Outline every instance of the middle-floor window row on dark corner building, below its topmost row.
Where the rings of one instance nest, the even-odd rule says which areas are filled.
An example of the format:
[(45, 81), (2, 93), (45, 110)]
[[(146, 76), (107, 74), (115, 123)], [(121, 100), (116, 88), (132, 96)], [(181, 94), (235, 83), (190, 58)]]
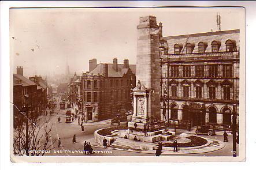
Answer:
[[(94, 95), (94, 100), (92, 100), (92, 95)], [(100, 96), (98, 96), (100, 95)], [(108, 101), (108, 100), (124, 100), (124, 99), (130, 99), (131, 98), (131, 92), (129, 90), (116, 90), (105, 92), (105, 96), (102, 96), (102, 92), (87, 92), (87, 97), (84, 96), (84, 99), (86, 102), (99, 102), (99, 101)], [(99, 97), (99, 99), (98, 99)], [(105, 97), (105, 99), (104, 99)]]

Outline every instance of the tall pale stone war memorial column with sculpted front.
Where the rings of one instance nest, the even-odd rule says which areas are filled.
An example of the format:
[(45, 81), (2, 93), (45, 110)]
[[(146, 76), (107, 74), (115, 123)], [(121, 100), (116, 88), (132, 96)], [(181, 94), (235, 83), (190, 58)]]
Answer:
[(154, 16), (140, 17), (137, 43), (136, 80), (133, 89), (133, 115), (129, 122), (129, 138), (141, 141), (160, 140), (161, 120), (159, 32)]

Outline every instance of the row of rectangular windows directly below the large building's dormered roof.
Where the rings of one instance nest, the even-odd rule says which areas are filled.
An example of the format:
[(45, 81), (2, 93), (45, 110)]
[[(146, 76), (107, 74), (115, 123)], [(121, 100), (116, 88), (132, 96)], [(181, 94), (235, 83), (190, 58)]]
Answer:
[[(191, 66), (170, 66), (170, 77), (180, 77), (179, 69), (182, 68), (182, 77), (191, 77)], [(205, 65), (195, 66), (195, 77), (204, 77)], [(233, 75), (232, 65), (222, 65), (222, 77), (230, 78)], [(218, 65), (208, 65), (208, 77), (218, 77)]]

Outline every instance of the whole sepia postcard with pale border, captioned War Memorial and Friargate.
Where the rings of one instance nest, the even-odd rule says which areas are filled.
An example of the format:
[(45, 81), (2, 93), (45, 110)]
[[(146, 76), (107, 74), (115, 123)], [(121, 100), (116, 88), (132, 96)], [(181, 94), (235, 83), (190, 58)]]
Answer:
[(11, 161), (245, 161), (243, 7), (9, 14)]

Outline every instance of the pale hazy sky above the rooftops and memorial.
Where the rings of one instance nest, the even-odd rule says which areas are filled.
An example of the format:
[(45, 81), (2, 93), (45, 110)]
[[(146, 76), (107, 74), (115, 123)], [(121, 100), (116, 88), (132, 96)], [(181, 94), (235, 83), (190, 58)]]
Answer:
[(118, 63), (128, 58), (136, 64), (136, 26), (139, 17), (153, 15), (163, 24), (163, 35), (241, 29), (241, 10), (233, 9), (11, 9), (10, 57), (13, 71), (24, 67), (24, 75), (62, 74), (88, 70), (88, 60)]

